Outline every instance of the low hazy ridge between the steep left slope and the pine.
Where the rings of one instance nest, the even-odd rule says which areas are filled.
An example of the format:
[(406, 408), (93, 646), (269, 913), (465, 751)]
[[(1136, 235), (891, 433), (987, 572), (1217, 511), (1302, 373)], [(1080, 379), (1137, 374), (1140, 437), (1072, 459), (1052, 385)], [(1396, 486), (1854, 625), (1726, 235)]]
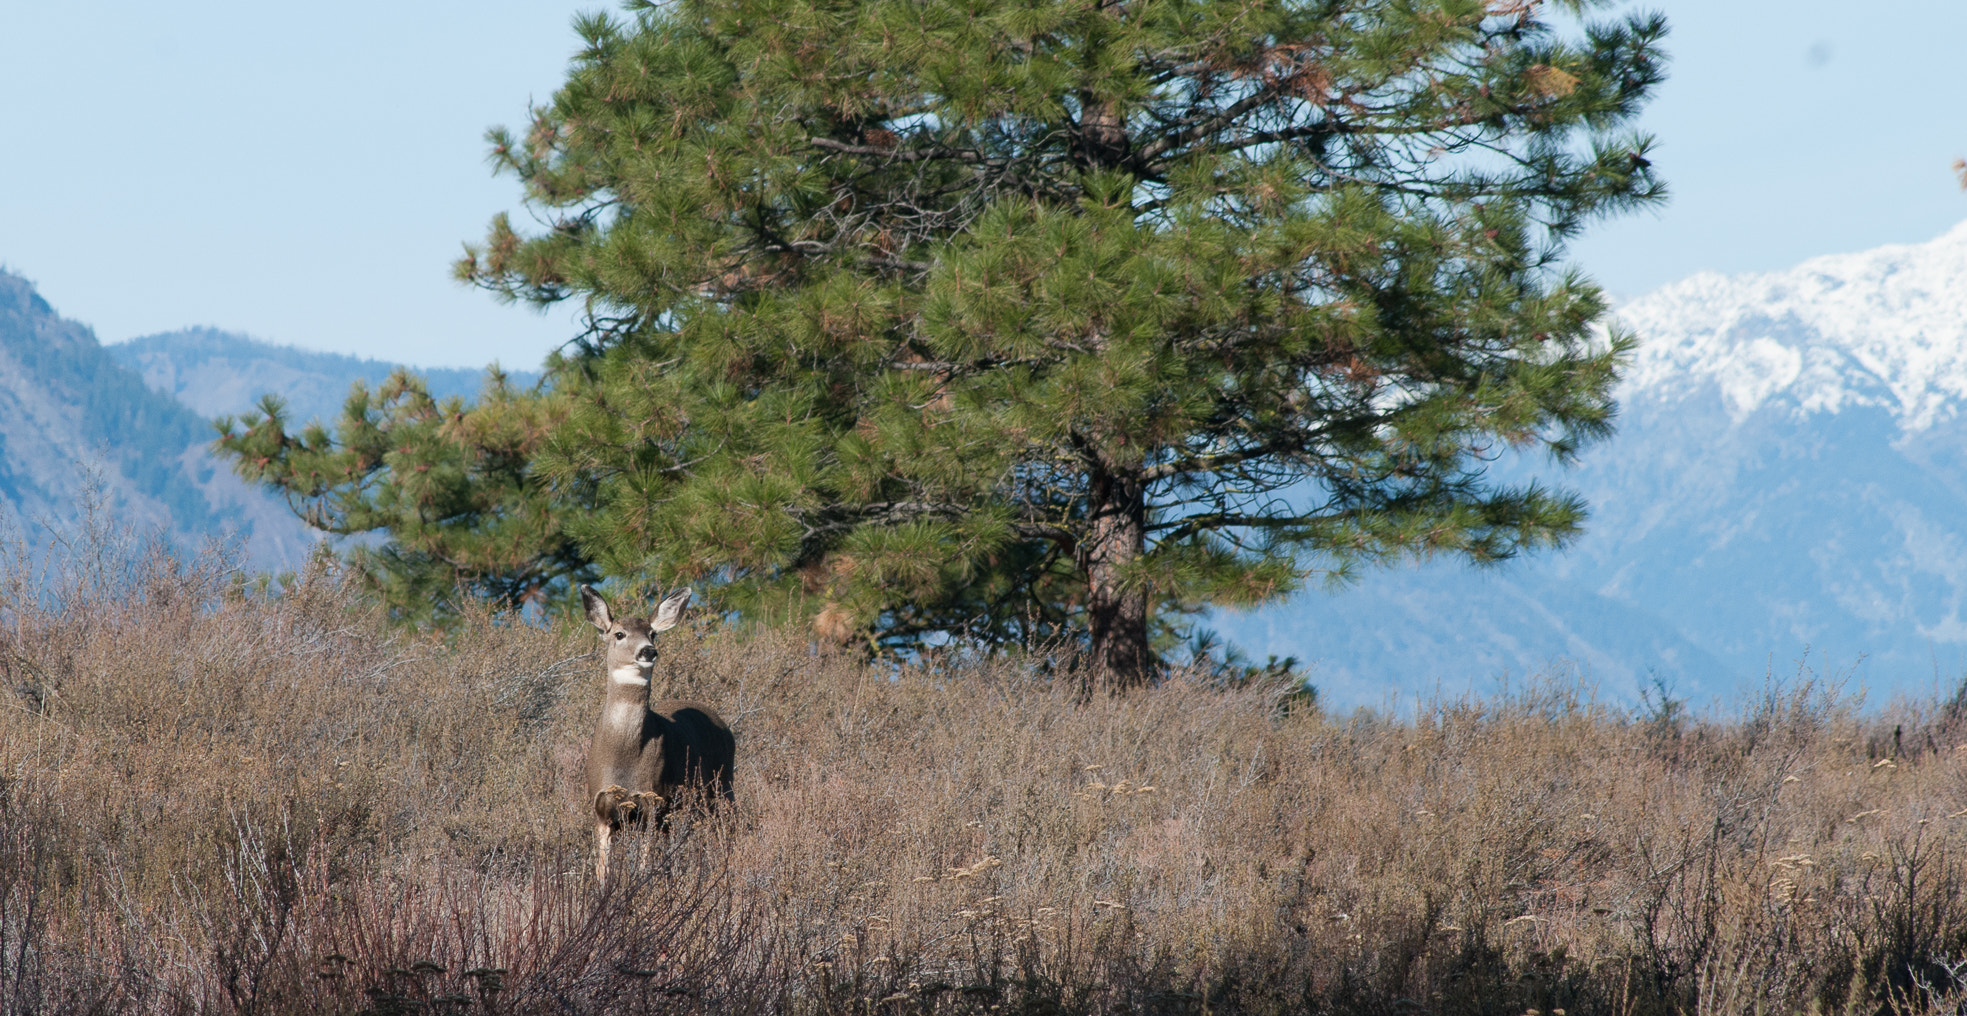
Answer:
[[(395, 364), (344, 354), (275, 346), (218, 328), (185, 328), (108, 346), (108, 354), (138, 371), (153, 391), (177, 397), (197, 415), (212, 419), (254, 409), (266, 393), (287, 401), (289, 421), (332, 424), (342, 415), (348, 387), (358, 379), (380, 385)], [(486, 371), (466, 367), (415, 367), (431, 395), (472, 399)], [(507, 371), (513, 385), (539, 381), (531, 371)]]

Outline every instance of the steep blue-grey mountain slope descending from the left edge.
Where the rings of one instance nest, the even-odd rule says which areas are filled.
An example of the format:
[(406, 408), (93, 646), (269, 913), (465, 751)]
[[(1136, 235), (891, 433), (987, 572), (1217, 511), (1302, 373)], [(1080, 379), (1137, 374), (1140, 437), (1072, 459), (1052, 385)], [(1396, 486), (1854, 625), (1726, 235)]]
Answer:
[(232, 533), (256, 564), (301, 560), (311, 542), (301, 523), (214, 462), (210, 438), (201, 415), (146, 387), (87, 326), (0, 271), (0, 501), (24, 536), (45, 538), (43, 521), (73, 525), (94, 474), (126, 527), (187, 546)]

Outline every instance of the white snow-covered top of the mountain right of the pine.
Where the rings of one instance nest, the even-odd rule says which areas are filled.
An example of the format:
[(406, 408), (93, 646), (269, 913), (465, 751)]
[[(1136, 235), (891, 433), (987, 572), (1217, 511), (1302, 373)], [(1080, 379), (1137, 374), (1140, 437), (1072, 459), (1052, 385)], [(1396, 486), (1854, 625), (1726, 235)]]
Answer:
[(1814, 257), (1747, 275), (1703, 271), (1617, 310), (1640, 338), (1627, 397), (1713, 385), (1741, 421), (1878, 407), (1906, 432), (1967, 403), (1967, 222), (1926, 244)]

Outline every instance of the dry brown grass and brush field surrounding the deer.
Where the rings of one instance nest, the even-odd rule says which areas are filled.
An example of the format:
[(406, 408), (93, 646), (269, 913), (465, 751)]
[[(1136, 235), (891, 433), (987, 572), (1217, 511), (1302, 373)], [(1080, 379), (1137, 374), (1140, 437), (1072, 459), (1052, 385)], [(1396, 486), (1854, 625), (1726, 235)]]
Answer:
[(588, 635), (403, 633), (212, 556), (65, 570), (0, 601), (4, 1014), (1963, 1006), (1959, 704), (1082, 704), (679, 629), (738, 806), (602, 892)]

